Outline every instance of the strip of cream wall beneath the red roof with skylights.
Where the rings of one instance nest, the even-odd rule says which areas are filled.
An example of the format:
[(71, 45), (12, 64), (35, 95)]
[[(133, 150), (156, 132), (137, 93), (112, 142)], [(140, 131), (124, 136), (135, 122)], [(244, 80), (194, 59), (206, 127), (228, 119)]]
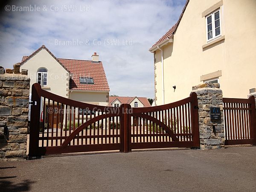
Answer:
[(85, 91), (72, 91), (70, 92), (70, 99), (90, 103), (93, 105), (107, 106), (108, 92), (85, 92)]

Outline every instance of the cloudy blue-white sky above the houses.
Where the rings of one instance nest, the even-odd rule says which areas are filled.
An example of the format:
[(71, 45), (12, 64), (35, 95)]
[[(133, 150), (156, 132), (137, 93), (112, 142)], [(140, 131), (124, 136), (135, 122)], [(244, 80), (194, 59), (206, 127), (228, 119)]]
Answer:
[(1, 1), (0, 66), (12, 68), (43, 44), (57, 57), (97, 52), (110, 94), (154, 98), (148, 49), (178, 20), (186, 0)]

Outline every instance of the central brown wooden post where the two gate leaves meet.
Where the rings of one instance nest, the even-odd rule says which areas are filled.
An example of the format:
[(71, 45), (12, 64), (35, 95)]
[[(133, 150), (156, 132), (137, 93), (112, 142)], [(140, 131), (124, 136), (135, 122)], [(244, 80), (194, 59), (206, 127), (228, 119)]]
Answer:
[(121, 118), (120, 118), (120, 139), (121, 139), (121, 150), (120, 152), (125, 152), (127, 153), (129, 150), (129, 142), (130, 142), (130, 137), (129, 137), (129, 130), (131, 129), (131, 117), (129, 114), (129, 111), (131, 109), (131, 105), (129, 104), (122, 104), (120, 106), (120, 111), (121, 113)]

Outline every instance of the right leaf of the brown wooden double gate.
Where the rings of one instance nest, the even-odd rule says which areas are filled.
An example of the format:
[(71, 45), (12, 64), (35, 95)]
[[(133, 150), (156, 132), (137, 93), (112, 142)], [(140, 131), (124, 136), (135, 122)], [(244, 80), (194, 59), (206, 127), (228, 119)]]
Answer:
[(131, 111), (129, 151), (200, 146), (196, 93), (178, 102)]

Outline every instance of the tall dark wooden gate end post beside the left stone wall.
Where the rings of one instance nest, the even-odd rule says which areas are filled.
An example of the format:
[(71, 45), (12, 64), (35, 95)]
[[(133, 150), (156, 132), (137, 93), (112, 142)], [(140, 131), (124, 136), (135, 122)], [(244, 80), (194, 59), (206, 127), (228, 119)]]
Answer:
[[(32, 85), (30, 112), (30, 134), (29, 134), (29, 157), (38, 155), (39, 147), (39, 124), (41, 107), (41, 85), (34, 83)], [(36, 103), (35, 103), (36, 102)]]

